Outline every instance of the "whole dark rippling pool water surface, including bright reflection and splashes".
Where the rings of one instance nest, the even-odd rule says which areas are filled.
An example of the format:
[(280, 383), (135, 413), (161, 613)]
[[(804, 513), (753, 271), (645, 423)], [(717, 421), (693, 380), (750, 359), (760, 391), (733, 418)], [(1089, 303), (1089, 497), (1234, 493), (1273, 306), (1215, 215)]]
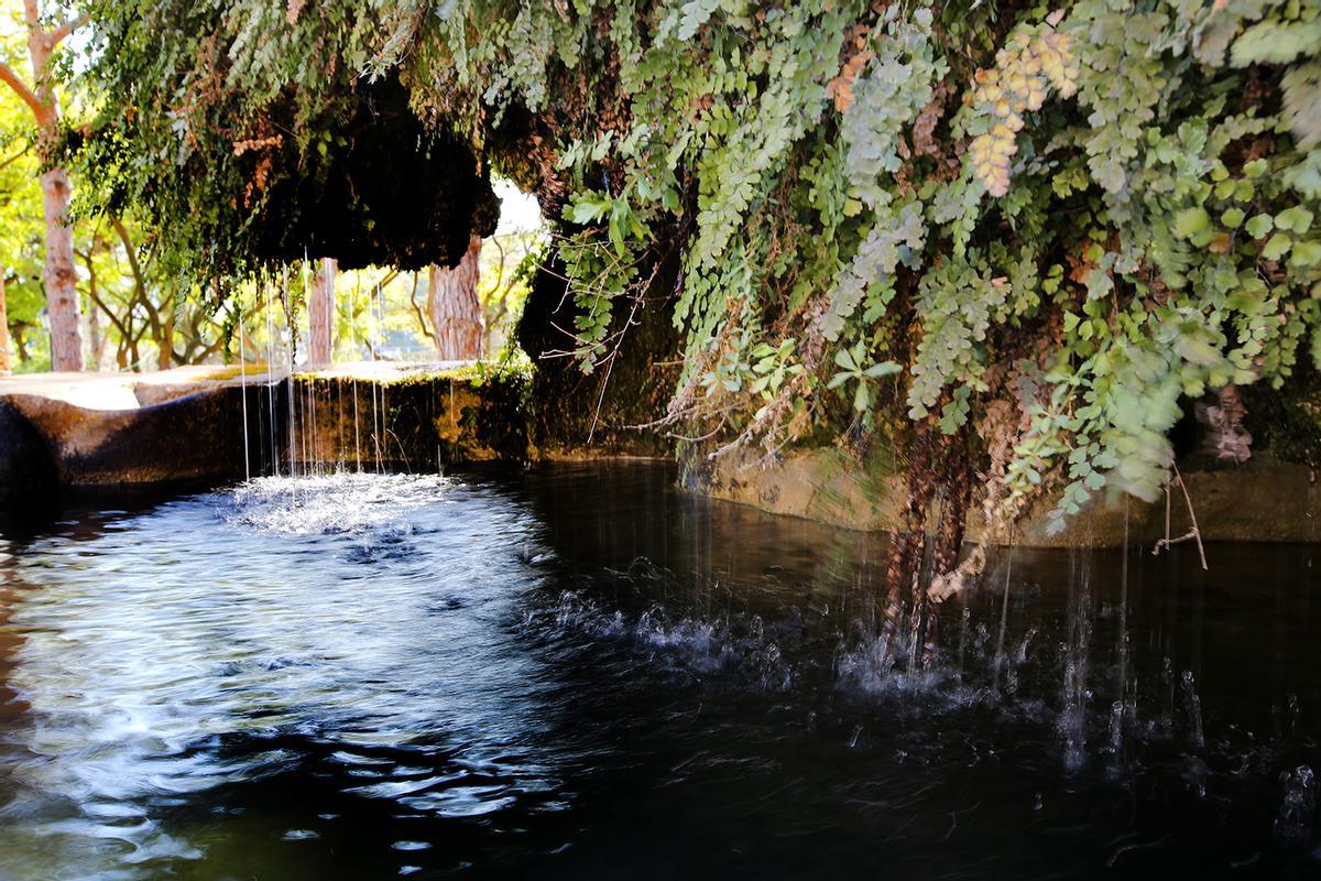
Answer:
[(11, 528), (0, 878), (1318, 874), (1313, 548), (1016, 551), (908, 676), (882, 540), (671, 483), (267, 478)]

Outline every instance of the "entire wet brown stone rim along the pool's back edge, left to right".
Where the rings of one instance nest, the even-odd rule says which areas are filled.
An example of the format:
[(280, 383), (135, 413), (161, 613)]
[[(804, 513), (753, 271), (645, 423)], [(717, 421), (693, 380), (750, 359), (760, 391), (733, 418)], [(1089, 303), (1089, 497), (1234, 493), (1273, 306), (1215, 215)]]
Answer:
[[(572, 309), (563, 288), (556, 295), (550, 280), (540, 285), (519, 333), (524, 346), (546, 355), (559, 345), (555, 328), (572, 325)], [(95, 376), (86, 380), (89, 394), (71, 379), (50, 382), (48, 394), (32, 379), (7, 380), (22, 394), (5, 395), (0, 383), (0, 495), (59, 485), (214, 485), (291, 468), (431, 473), (482, 461), (668, 457), (672, 441), (637, 425), (663, 412), (672, 367), (653, 363), (647, 353), (672, 325), (664, 301), (646, 304), (641, 314), (604, 394), (604, 370), (583, 374), (567, 358), (543, 358), (531, 375), (466, 365), (358, 365), (299, 374), (292, 411), (288, 380), (234, 375), (231, 369), (132, 380)], [(112, 379), (123, 387), (111, 388)], [(94, 404), (96, 398), (115, 408), (71, 403)], [(900, 468), (884, 450), (864, 461), (836, 448), (799, 449), (770, 466), (752, 454), (709, 460), (690, 452), (679, 483), (695, 495), (773, 514), (886, 531), (898, 523), (905, 499)], [(1149, 544), (1178, 539), (1192, 526), (1189, 502), (1205, 542), (1317, 540), (1317, 487), (1308, 465), (1271, 452), (1243, 464), (1190, 452), (1181, 469), (1188, 501), (1172, 487), (1168, 530), (1164, 499), (1102, 497), (1052, 534), (1046, 515), (1054, 499), (1048, 498), (1015, 543), (1119, 547), (1125, 536)], [(934, 528), (938, 509), (931, 518)], [(983, 532), (974, 509), (967, 539), (978, 542)]]

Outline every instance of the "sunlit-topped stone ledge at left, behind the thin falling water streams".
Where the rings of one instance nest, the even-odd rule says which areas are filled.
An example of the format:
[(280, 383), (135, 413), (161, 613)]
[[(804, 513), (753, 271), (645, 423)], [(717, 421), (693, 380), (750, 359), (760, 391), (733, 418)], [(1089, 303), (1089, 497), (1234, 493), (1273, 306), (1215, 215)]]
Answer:
[(0, 384), (0, 494), (527, 460), (524, 375), (472, 366), (366, 372), (90, 376), (15, 382), (21, 391), (11, 394)]

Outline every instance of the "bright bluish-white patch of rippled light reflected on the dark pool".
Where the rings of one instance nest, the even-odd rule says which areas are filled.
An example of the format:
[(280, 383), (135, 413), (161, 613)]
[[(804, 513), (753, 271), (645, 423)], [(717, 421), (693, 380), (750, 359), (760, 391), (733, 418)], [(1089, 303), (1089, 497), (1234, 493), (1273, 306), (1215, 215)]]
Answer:
[(28, 707), (4, 730), (0, 853), (149, 877), (202, 856), (174, 808), (289, 775), (440, 816), (551, 803), (551, 674), (505, 626), (538, 582), (534, 524), (439, 478), (275, 478), (33, 542), (5, 625)]

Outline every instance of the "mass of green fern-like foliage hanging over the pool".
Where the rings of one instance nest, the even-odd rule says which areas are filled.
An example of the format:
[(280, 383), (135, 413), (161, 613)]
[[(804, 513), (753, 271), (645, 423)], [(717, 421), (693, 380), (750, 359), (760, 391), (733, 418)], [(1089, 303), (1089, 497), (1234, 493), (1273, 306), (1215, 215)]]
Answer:
[(670, 419), (717, 450), (915, 439), (921, 481), (972, 449), (993, 522), (1052, 483), (1062, 518), (1155, 498), (1181, 400), (1321, 358), (1314, 0), (90, 11), (85, 210), (254, 272), (285, 181), (398, 81), (415, 151), (458, 139), (559, 221), (585, 369), (682, 254)]

